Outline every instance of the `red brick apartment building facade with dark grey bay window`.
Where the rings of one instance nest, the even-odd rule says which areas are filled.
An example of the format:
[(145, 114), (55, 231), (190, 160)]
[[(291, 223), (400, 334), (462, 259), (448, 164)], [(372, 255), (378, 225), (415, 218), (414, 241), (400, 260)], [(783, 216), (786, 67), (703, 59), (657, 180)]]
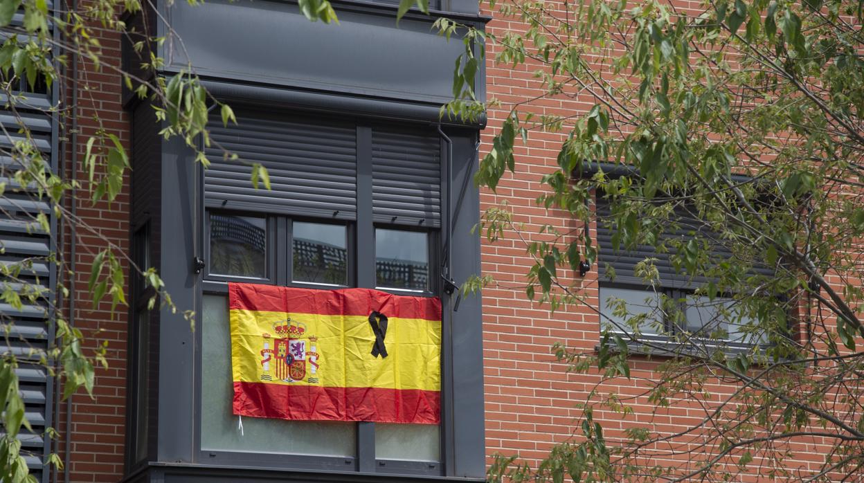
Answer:
[[(29, 464), (38, 472), (48, 451), (66, 462), (35, 473), (41, 481), (481, 481), (491, 454), (537, 461), (573, 437), (581, 416), (576, 403), (600, 376), (568, 372), (551, 346), (597, 346), (594, 308), (603, 290), (597, 267), (570, 274), (587, 307), (553, 315), (524, 294), (534, 261), (522, 241), (508, 235), (491, 244), (473, 232), (480, 213), (504, 201), (525, 233), (576, 227), (535, 203), (541, 178), (558, 168), (566, 134), (532, 133), (517, 149), (516, 175), (505, 175), (495, 193), (474, 187), (478, 159), (508, 111), (493, 108), (476, 122), (440, 117), (462, 44), (437, 35), (432, 22), (446, 16), (493, 34), (524, 26), (492, 19), (471, 0), (433, 3), (431, 16), (410, 12), (398, 24), (397, 5), (384, 0), (334, 2), (339, 25), (309, 22), (295, 3), (270, 1), (159, 1), (128, 18), (165, 38), (149, 46), (166, 60), (159, 75), (194, 69), (214, 99), (237, 114), (238, 124), (226, 127), (214, 111), (213, 143), (199, 146), (212, 162), (207, 169), (194, 162), (194, 149), (160, 135), (164, 126), (153, 105), (126, 90), (111, 69), (79, 60), (76, 82), (37, 99), (75, 106), (62, 126), (56, 118), (33, 118), (31, 126), (53, 168), (69, 179), (85, 176), (87, 135), (117, 135), (132, 158), (117, 200), (92, 205), (81, 197), (69, 207), (98, 232), (57, 227), (57, 249), (76, 278), (49, 265), (33, 268), (52, 287), (67, 285), (71, 296), (60, 307), (84, 331), (87, 349), (105, 343), (108, 362), (96, 372), (92, 398), (78, 393), (66, 401), (48, 372), (22, 367), (35, 433), (59, 431), (53, 441), (24, 440)], [(135, 71), (142, 58), (132, 48), (134, 36), (101, 33), (106, 60)], [(486, 47), (487, 59), (499, 48)], [(475, 83), (480, 99), (514, 103), (543, 94), (529, 67), (487, 61)], [(539, 113), (573, 114), (593, 105), (588, 98), (549, 100)], [(262, 162), (272, 189), (252, 188), (248, 165), (223, 160), (223, 149)], [(9, 203), (22, 213), (46, 208)], [(596, 234), (598, 226), (588, 229)], [(23, 232), (12, 221), (0, 222), (0, 230), (7, 263), (51, 249), (44, 233)], [(529, 242), (543, 239), (531, 236)], [(134, 276), (127, 277), (128, 313), (113, 313), (108, 302), (90, 307), (92, 248), (106, 240), (136, 264), (159, 270), (176, 306), (197, 315), (194, 329), (168, 308), (149, 311), (151, 294)], [(496, 281), (482, 298), (448, 293), (449, 281), (458, 285), (478, 273)], [(247, 418), (241, 430), (227, 384), (229, 282), (441, 297), (442, 423)], [(53, 336), (38, 328), (41, 312), (17, 317), (32, 329), (24, 334), (30, 339)], [(638, 379), (651, 379), (657, 364), (633, 358), (634, 378), (607, 391), (644, 397)], [(715, 390), (719, 401), (734, 388)], [(669, 432), (699, 417), (686, 405), (658, 415), (645, 400), (638, 409), (632, 418)], [(595, 418), (610, 437), (628, 428), (611, 412)], [(821, 460), (818, 442), (811, 443), (816, 451), (797, 456), (801, 467)]]

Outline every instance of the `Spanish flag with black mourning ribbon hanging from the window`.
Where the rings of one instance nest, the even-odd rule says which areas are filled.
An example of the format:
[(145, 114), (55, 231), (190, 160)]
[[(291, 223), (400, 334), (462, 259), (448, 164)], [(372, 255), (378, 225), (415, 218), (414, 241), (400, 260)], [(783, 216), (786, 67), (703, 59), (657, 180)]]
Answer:
[(250, 283), (228, 294), (234, 414), (439, 423), (439, 299)]

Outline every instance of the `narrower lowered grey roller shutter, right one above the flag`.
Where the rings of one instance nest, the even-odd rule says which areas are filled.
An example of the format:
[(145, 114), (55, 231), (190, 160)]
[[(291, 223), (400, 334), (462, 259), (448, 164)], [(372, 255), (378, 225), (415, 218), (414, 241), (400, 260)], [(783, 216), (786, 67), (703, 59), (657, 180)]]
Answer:
[(441, 141), (434, 130), (372, 129), (376, 222), (441, 226)]

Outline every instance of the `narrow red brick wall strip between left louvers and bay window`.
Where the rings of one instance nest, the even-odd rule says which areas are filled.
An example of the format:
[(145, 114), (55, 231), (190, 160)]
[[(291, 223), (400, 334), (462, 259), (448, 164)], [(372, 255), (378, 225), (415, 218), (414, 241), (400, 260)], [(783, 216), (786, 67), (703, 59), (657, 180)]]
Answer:
[[(123, 79), (114, 73), (110, 65), (120, 65), (120, 38), (110, 31), (96, 29), (102, 47), (105, 65), (94, 67), (89, 61), (79, 62), (78, 105), (78, 145), (76, 159), (79, 162), (77, 179), (86, 180), (86, 168), (81, 160), (86, 151), (88, 137), (104, 130), (120, 138), (126, 149), (130, 148), (129, 114), (123, 110), (121, 86)], [(68, 74), (71, 75), (69, 68)], [(72, 85), (67, 86), (67, 105), (72, 101)], [(63, 96), (61, 96), (63, 97)], [(98, 115), (98, 119), (97, 119)], [(61, 123), (60, 137), (72, 141), (71, 116)], [(67, 176), (72, 176), (72, 149), (67, 148)], [(71, 208), (71, 205), (70, 205)], [(79, 190), (77, 215), (81, 225), (67, 229), (74, 232), (76, 245), (75, 259), (71, 254), (71, 235), (64, 240), (64, 257), (73, 264), (75, 280), (73, 285), (68, 274), (61, 274), (74, 294), (74, 320), (85, 337), (86, 351), (97, 350), (105, 344), (105, 358), (108, 368), (98, 367), (94, 383), (93, 397), (84, 389), (71, 397), (71, 426), (67, 428), (67, 402), (60, 406), (60, 418), (55, 428), (60, 432), (55, 444), (55, 452), (67, 460), (69, 481), (118, 481), (123, 475), (125, 406), (126, 406), (126, 349), (127, 319), (126, 308), (119, 306), (111, 314), (111, 304), (101, 302), (93, 309), (87, 279), (90, 276), (92, 258), (108, 242), (115, 244), (124, 252), (129, 249), (129, 177), (124, 182), (124, 190), (110, 205), (100, 202), (95, 206), (89, 200), (86, 190)], [(89, 227), (89, 229), (87, 228)], [(124, 263), (124, 266), (128, 266)], [(127, 281), (128, 270), (126, 271)], [(126, 289), (127, 295), (129, 289)], [(69, 302), (65, 313), (68, 316)], [(55, 389), (59, 398), (62, 387)], [(67, 436), (71, 437), (67, 448)], [(65, 478), (64, 471), (58, 474), (58, 481)]]

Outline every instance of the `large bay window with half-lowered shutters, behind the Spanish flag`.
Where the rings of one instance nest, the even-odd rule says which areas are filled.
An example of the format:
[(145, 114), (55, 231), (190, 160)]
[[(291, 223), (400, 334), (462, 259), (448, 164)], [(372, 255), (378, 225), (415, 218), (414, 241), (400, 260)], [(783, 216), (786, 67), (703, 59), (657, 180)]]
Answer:
[[(219, 161), (204, 173), (207, 247), (200, 331), (200, 452), (205, 461), (441, 474), (442, 429), (428, 424), (283, 421), (232, 414), (226, 281), (437, 296), (442, 225), (441, 141), (434, 129), (353, 126), (238, 113), (212, 131), (248, 168)], [(367, 175), (363, 175), (363, 174)], [(361, 428), (362, 425), (362, 428)], [(361, 430), (362, 429), (362, 430)], [(368, 450), (366, 450), (368, 454)], [(368, 471), (366, 469), (365, 471)]]

